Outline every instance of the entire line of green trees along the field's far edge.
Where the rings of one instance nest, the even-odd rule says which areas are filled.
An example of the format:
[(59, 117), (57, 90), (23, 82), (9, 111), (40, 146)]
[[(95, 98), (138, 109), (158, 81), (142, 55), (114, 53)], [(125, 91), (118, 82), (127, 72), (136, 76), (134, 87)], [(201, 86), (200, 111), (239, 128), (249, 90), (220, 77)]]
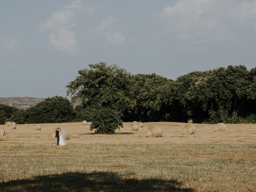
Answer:
[(66, 86), (72, 100), (82, 102), (76, 108), (60, 96), (26, 110), (1, 104), (0, 124), (7, 120), (18, 124), (87, 120), (96, 129), (104, 115), (116, 119), (118, 127), (122, 121), (186, 122), (188, 118), (197, 123), (256, 122), (256, 68), (220, 67), (171, 80), (154, 73), (133, 75), (100, 62), (78, 74)]

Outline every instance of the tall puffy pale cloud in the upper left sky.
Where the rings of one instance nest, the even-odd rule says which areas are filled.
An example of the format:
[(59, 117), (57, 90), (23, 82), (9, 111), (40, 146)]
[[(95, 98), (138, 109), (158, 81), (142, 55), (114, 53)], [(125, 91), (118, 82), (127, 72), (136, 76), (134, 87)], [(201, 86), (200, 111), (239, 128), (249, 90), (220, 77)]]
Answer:
[(64, 5), (61, 10), (56, 11), (46, 21), (38, 25), (38, 30), (49, 32), (50, 45), (57, 51), (69, 54), (77, 53), (77, 42), (75, 32), (76, 26), (74, 17), (76, 12), (92, 13), (92, 8), (84, 8), (80, 0)]

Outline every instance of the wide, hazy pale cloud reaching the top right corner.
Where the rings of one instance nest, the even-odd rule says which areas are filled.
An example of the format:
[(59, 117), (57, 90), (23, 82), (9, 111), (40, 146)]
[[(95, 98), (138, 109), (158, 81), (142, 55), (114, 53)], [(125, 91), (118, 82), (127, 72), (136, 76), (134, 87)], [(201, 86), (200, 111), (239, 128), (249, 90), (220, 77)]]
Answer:
[(184, 43), (232, 40), (238, 24), (256, 24), (256, 0), (177, 0), (158, 18), (166, 22), (167, 34)]

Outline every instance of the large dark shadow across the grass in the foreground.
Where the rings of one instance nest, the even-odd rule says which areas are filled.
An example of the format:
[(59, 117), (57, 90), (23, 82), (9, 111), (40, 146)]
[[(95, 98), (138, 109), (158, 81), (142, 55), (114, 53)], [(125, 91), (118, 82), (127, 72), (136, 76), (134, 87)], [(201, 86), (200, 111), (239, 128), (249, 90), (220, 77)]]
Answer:
[(113, 172), (68, 172), (0, 183), (1, 192), (194, 192), (174, 180), (129, 179)]

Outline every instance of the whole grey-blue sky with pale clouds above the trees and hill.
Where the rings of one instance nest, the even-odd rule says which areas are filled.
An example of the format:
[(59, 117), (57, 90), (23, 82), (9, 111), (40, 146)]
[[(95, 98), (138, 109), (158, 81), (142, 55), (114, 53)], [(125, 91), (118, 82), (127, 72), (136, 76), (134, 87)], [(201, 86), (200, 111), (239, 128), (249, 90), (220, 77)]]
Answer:
[(173, 80), (250, 70), (256, 0), (0, 0), (0, 97), (65, 97), (98, 62)]

